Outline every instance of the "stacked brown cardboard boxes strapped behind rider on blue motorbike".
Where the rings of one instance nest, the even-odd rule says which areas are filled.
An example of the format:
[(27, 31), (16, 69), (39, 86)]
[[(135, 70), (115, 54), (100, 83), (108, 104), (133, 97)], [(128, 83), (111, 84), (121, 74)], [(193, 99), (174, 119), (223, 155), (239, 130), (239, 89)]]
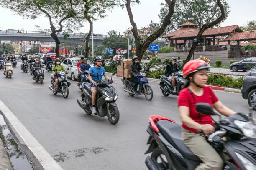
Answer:
[(117, 67), (117, 76), (131, 78), (130, 66), (132, 65), (133, 61), (129, 59), (122, 59), (121, 66)]

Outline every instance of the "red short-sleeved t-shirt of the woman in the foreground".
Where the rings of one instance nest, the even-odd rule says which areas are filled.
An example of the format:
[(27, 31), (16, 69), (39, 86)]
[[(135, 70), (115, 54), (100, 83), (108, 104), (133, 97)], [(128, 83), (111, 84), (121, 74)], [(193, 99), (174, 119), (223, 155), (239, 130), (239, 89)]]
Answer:
[[(202, 96), (196, 96), (195, 94), (192, 94), (196, 100), (196, 103), (200, 103), (200, 102), (209, 103), (213, 107), (213, 104), (215, 102), (218, 102), (218, 98), (216, 97), (216, 95), (214, 94), (214, 92), (210, 87), (205, 86), (203, 87), (203, 90), (204, 90), (204, 93)], [(195, 122), (199, 124), (213, 125), (212, 117), (209, 115), (200, 114), (202, 122), (200, 121), (198, 112), (195, 110), (195, 101), (192, 95), (189, 93), (189, 90), (187, 88), (181, 90), (179, 92), (179, 97), (178, 97), (178, 106), (189, 107), (189, 117), (195, 120)], [(184, 124), (182, 124), (182, 127), (184, 129), (190, 130), (195, 133), (198, 132), (198, 130), (189, 128)]]

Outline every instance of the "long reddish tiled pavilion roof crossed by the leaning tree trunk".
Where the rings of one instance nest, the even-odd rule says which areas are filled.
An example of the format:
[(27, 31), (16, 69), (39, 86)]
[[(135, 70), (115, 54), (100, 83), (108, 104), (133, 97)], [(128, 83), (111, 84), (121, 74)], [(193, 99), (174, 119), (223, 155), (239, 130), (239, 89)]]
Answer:
[[(205, 30), (205, 32), (202, 34), (202, 36), (225, 35), (225, 34), (233, 32), (233, 30), (236, 30), (236, 29), (242, 31), (238, 25), (218, 27), (218, 28), (209, 28), (209, 29)], [(196, 37), (198, 32), (199, 32), (199, 30), (182, 32), (179, 35), (175, 35), (171, 38), (176, 39), (176, 38)]]

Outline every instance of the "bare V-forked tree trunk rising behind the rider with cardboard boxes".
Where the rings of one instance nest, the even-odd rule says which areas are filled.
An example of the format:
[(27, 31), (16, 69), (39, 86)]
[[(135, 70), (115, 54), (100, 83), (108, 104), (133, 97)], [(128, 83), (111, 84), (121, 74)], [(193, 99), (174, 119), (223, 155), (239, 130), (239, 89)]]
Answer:
[(138, 34), (137, 25), (133, 20), (133, 13), (131, 11), (131, 3), (139, 4), (140, 1), (139, 0), (122, 0), (122, 2), (124, 2), (124, 3), (121, 3), (120, 5), (122, 7), (126, 7), (126, 10), (128, 12), (128, 15), (129, 15), (130, 23), (133, 27), (131, 32), (133, 32), (133, 36), (134, 36), (134, 39), (135, 39), (136, 55), (138, 56), (139, 60), (141, 60), (142, 57), (143, 57), (144, 52), (147, 50), (147, 48), (149, 47), (151, 42), (153, 42), (158, 37), (160, 37), (163, 34), (166, 27), (171, 23), (170, 19), (172, 18), (172, 15), (174, 13), (174, 5), (176, 3), (176, 0), (172, 0), (172, 1), (171, 0), (165, 0), (165, 2), (169, 6), (169, 10), (168, 10), (168, 13), (167, 13), (167, 15), (165, 16), (165, 18), (163, 20), (163, 23), (161, 24), (161, 26), (158, 30), (156, 30), (150, 36), (146, 37), (146, 39), (143, 42), (141, 42), (141, 37)]

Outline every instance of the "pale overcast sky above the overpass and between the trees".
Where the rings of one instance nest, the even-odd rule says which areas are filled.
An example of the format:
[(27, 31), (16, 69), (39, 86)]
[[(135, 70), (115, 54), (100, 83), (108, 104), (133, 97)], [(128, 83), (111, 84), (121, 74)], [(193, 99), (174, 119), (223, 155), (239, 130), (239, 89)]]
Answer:
[[(256, 0), (226, 0), (230, 5), (230, 14), (228, 18), (220, 26), (239, 25), (243, 26), (248, 21), (256, 20)], [(133, 17), (138, 28), (146, 27), (150, 21), (159, 22), (158, 14), (161, 9), (160, 3), (164, 0), (141, 0), (139, 5), (131, 7)], [(107, 31), (115, 30), (123, 32), (131, 27), (126, 8), (117, 7), (112, 11), (108, 11), (105, 19), (99, 19), (93, 23), (94, 34), (107, 34)], [(34, 25), (41, 26), (42, 29), (49, 29), (48, 18), (38, 18), (36, 20), (23, 19), (16, 16), (11, 10), (0, 7), (0, 30), (35, 30)], [(81, 28), (81, 32), (89, 31), (89, 24), (85, 23), (85, 28)]]

